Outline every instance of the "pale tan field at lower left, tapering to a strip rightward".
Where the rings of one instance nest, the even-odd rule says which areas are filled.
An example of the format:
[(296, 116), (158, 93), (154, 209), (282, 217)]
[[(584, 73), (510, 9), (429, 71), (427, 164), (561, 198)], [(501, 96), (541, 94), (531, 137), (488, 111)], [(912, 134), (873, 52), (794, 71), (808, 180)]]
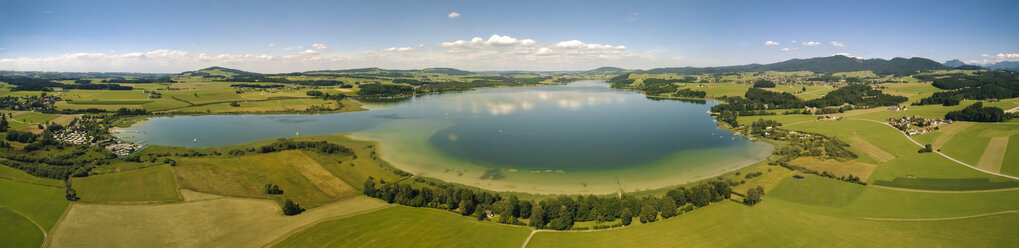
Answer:
[(171, 204), (74, 204), (50, 246), (262, 247), (302, 227), (387, 206), (355, 197), (285, 216), (272, 201), (215, 196)]

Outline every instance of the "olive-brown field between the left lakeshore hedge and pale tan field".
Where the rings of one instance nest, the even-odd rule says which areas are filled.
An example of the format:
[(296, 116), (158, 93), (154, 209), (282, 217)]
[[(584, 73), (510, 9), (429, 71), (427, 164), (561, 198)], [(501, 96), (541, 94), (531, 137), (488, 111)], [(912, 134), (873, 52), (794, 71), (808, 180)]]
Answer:
[[(236, 157), (181, 158), (173, 170), (184, 189), (280, 202), (282, 198), (289, 198), (306, 208), (360, 193), (300, 150)], [(266, 184), (278, 185), (283, 195), (265, 194)]]

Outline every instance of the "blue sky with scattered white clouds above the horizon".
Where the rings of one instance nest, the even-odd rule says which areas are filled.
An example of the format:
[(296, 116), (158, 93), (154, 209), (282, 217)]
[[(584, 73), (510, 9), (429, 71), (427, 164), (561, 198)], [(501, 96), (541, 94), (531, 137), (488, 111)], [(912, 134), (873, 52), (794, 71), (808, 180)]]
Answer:
[(0, 0), (0, 69), (585, 70), (1019, 61), (1019, 1)]

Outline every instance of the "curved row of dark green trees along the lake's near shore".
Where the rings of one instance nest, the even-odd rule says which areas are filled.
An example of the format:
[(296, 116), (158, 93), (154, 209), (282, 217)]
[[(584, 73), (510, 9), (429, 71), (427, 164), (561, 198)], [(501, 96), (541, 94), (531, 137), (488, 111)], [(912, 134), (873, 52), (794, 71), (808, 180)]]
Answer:
[[(529, 225), (536, 229), (571, 230), (574, 229), (574, 224), (579, 221), (620, 219), (621, 225), (615, 227), (621, 227), (629, 226), (635, 217), (641, 222), (673, 217), (694, 207), (729, 199), (732, 194), (731, 187), (739, 185), (737, 182), (714, 179), (692, 188), (673, 189), (662, 197), (581, 195), (527, 201), (520, 200), (516, 196), (502, 197), (498, 193), (468, 189), (443, 182), (416, 179), (415, 183), (424, 187), (412, 187), (411, 184), (369, 178), (365, 181), (363, 193), (389, 203), (445, 209), (478, 219), (485, 219), (491, 213), (498, 215), (493, 219), (498, 222), (523, 225), (521, 219), (529, 219)], [(596, 229), (609, 227), (598, 226)]]

